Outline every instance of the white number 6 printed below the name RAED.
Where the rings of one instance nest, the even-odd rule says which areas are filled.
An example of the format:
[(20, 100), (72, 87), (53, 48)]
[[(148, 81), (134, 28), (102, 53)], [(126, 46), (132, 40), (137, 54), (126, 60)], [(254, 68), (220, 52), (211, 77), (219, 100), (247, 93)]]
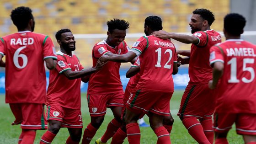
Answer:
[[(13, 63), (19, 69), (23, 69), (27, 65), (27, 56), (25, 54), (19, 54), (21, 52), (21, 50), (24, 49), (24, 48), (27, 48), (27, 46), (23, 46), (21, 48), (18, 48), (15, 51), (14, 55), (13, 55)], [(19, 64), (19, 57), (21, 57), (21, 59), (23, 60), (22, 65)]]

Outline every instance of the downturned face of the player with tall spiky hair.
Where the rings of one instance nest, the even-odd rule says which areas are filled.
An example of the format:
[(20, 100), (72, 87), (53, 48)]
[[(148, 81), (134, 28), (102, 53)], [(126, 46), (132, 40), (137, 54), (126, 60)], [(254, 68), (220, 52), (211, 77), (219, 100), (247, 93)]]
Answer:
[(126, 30), (118, 30), (114, 29), (111, 32), (107, 32), (107, 40), (108, 44), (112, 46), (118, 46), (120, 43), (122, 43), (126, 36)]

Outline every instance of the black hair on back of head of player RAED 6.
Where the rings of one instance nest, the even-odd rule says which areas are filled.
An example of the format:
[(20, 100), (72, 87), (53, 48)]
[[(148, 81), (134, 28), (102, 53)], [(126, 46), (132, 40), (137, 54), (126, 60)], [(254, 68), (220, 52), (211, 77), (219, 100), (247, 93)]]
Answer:
[(11, 11), (11, 20), (18, 30), (26, 28), (31, 19), (34, 17), (29, 7), (20, 6)]

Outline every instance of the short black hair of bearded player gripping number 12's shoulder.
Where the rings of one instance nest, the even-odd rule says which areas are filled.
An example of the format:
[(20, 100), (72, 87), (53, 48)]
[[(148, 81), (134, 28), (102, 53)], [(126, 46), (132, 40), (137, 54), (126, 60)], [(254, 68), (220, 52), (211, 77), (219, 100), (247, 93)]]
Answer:
[(212, 25), (213, 21), (215, 21), (215, 16), (213, 12), (207, 9), (196, 9), (195, 11), (193, 11), (193, 14), (200, 15), (204, 20), (207, 20), (209, 26)]

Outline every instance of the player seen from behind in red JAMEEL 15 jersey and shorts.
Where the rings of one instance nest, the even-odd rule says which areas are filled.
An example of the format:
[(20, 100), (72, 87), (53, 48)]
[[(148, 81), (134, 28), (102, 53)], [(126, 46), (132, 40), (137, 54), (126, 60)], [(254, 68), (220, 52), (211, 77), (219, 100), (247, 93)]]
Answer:
[(209, 88), (216, 88), (220, 80), (213, 124), (215, 144), (228, 144), (233, 123), (245, 144), (256, 144), (256, 45), (240, 39), (245, 23), (240, 14), (226, 15), (226, 41), (210, 49), (213, 80)]

